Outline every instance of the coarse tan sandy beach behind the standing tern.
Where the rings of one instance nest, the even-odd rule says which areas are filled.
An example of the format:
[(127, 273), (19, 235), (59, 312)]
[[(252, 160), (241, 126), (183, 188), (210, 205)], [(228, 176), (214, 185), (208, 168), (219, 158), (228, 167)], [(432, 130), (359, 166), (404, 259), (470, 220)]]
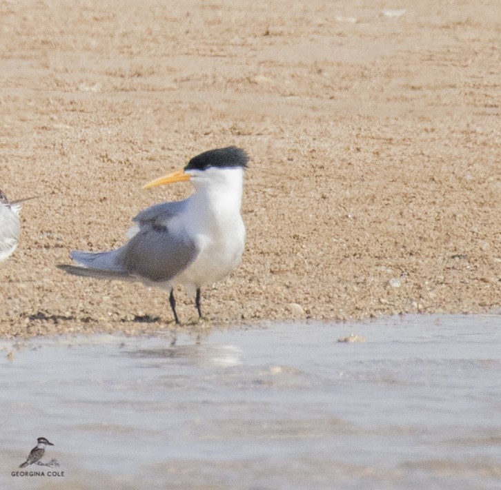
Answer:
[(124, 243), (191, 192), (141, 185), (225, 145), (252, 157), (248, 241), (208, 325), (499, 308), (498, 1), (391, 8), (1, 3), (0, 188), (41, 198), (0, 265), (0, 336), (170, 328), (165, 292), (55, 266)]

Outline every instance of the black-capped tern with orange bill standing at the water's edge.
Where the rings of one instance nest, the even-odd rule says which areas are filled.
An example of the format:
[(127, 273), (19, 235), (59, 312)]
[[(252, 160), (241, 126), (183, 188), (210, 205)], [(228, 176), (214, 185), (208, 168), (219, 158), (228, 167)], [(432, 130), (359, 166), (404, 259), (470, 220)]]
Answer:
[(240, 214), (244, 170), (248, 156), (235, 146), (199, 154), (177, 172), (146, 184), (190, 181), (195, 194), (183, 201), (146, 208), (132, 219), (130, 241), (110, 252), (71, 252), (77, 265), (59, 268), (80, 276), (139, 280), (170, 289), (169, 303), (175, 323), (174, 287), (182, 285), (195, 295), (202, 318), (202, 287), (226, 277), (242, 260), (245, 226)]

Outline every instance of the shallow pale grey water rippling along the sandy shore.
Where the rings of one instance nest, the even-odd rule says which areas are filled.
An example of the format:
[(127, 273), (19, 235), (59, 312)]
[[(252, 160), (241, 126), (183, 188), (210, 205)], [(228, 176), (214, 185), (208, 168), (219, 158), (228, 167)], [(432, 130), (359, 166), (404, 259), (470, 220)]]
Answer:
[(0, 488), (501, 488), (501, 316), (170, 340), (0, 343)]

